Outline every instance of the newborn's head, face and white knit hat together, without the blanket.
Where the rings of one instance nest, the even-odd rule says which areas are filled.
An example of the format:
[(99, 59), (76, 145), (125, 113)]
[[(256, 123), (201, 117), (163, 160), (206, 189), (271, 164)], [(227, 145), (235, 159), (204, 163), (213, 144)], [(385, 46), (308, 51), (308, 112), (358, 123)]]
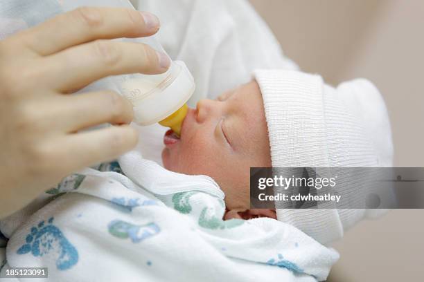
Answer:
[[(188, 111), (181, 138), (167, 131), (164, 167), (218, 182), (225, 194), (224, 219), (267, 216), (321, 243), (341, 237), (366, 210), (249, 209), (249, 168), (389, 166), (391, 133), (380, 93), (365, 79), (333, 88), (297, 71), (255, 76), (216, 100), (200, 100)], [(328, 224), (318, 226), (324, 218)]]

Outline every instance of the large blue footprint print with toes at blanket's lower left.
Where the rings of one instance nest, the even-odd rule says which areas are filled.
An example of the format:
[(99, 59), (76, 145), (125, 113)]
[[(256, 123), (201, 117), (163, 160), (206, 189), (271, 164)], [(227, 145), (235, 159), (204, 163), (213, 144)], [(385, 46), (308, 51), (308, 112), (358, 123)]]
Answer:
[(78, 262), (78, 252), (68, 241), (62, 231), (53, 225), (53, 217), (48, 219), (44, 225), (44, 220), (40, 221), (37, 227), (32, 227), (30, 234), (26, 236), (26, 244), (22, 245), (17, 254), (27, 254), (31, 252), (33, 256), (55, 256), (58, 270), (68, 270)]

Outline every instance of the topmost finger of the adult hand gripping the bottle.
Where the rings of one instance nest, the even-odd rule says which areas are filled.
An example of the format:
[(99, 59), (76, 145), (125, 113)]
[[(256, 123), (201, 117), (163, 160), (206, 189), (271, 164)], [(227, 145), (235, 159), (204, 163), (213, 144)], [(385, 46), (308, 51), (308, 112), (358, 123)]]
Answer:
[(145, 37), (157, 30), (159, 19), (149, 12), (81, 7), (53, 17), (17, 36), (39, 55), (51, 55), (96, 39)]

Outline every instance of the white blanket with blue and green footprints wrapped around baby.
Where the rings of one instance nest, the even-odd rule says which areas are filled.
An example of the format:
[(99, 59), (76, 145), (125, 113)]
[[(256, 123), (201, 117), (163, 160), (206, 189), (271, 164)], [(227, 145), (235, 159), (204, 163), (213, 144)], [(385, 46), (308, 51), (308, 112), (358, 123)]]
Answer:
[(192, 176), (135, 152), (121, 163), (134, 181), (85, 169), (48, 190), (55, 200), (12, 232), (1, 273), (12, 266), (48, 267), (48, 281), (322, 281), (338, 259), (277, 220), (222, 220), (224, 194), (211, 178), (187, 182)]

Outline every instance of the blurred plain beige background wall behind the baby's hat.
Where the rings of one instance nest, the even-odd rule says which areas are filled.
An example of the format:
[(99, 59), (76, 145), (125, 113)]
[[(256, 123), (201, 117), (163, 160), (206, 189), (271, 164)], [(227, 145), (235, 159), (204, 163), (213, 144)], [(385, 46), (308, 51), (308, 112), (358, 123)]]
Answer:
[[(366, 77), (385, 97), (395, 165), (424, 167), (424, 1), (250, 0), (288, 57), (330, 84)], [(329, 281), (423, 281), (424, 210), (366, 221), (335, 243)]]

